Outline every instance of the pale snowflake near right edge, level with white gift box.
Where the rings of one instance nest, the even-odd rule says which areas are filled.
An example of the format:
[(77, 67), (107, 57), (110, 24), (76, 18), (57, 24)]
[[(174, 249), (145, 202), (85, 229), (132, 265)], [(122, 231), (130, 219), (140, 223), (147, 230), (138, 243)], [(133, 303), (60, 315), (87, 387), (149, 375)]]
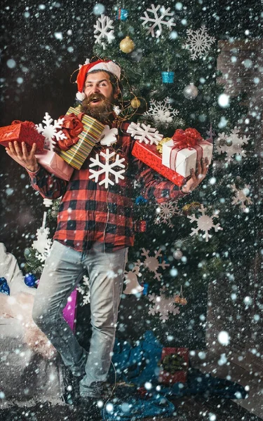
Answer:
[[(231, 130), (231, 134), (230, 135), (225, 135), (224, 133), (219, 133), (219, 138), (217, 138), (217, 153), (218, 154), (224, 154), (225, 152), (227, 153), (227, 156), (225, 157), (225, 159), (227, 161), (233, 161), (233, 156), (234, 155), (239, 155), (239, 156), (246, 156), (246, 152), (243, 149), (243, 145), (247, 145), (248, 144), (248, 140), (250, 139), (249, 136), (241, 136), (240, 135), (240, 131), (241, 129), (238, 127), (235, 127), (234, 129)], [(220, 142), (231, 142), (231, 145), (220, 145)]]

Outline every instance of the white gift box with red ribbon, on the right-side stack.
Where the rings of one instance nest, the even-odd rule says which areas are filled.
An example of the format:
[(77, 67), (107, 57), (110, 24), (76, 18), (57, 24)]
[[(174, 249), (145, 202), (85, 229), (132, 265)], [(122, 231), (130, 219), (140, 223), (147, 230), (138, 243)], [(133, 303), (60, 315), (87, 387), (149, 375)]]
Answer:
[(175, 147), (173, 139), (168, 140), (168, 142), (163, 143), (162, 163), (183, 177), (188, 177), (191, 175), (191, 168), (196, 169), (197, 159), (207, 157), (209, 164), (212, 161), (212, 143), (203, 140), (203, 142), (198, 142), (196, 149), (194, 147), (178, 149)]

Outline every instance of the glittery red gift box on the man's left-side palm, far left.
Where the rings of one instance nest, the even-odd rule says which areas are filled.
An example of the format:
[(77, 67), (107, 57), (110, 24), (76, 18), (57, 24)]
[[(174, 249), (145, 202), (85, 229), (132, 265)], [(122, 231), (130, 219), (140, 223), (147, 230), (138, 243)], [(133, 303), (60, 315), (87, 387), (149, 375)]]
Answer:
[(25, 142), (27, 150), (36, 143), (36, 152), (42, 152), (45, 137), (39, 133), (32, 121), (19, 121), (11, 126), (0, 127), (0, 145), (8, 147), (8, 142)]

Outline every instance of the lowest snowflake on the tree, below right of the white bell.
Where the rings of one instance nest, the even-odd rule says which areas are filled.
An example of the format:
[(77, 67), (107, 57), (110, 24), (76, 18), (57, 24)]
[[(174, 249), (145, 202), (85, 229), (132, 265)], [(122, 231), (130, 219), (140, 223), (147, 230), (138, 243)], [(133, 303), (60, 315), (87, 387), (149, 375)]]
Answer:
[(160, 288), (160, 295), (149, 294), (149, 301), (154, 302), (152, 307), (149, 307), (148, 314), (154, 316), (154, 314), (159, 313), (160, 319), (162, 321), (168, 320), (169, 316), (168, 313), (172, 313), (174, 316), (175, 314), (180, 314), (179, 307), (175, 305), (175, 297), (176, 293), (173, 294), (173, 297), (166, 297), (166, 287)]

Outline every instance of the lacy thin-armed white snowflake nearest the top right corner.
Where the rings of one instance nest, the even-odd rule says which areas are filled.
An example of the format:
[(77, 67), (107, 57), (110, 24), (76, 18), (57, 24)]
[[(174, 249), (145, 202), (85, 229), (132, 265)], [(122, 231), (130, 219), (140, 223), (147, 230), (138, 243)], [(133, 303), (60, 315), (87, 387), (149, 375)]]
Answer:
[(208, 35), (205, 26), (202, 26), (196, 31), (187, 29), (187, 35), (187, 42), (183, 47), (191, 51), (192, 60), (196, 60), (197, 57), (203, 57), (203, 55), (207, 54), (210, 46), (215, 42), (215, 37)]

